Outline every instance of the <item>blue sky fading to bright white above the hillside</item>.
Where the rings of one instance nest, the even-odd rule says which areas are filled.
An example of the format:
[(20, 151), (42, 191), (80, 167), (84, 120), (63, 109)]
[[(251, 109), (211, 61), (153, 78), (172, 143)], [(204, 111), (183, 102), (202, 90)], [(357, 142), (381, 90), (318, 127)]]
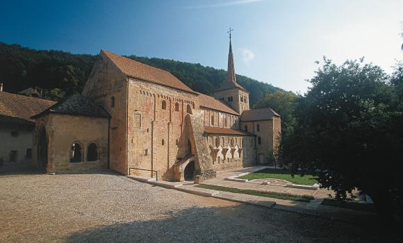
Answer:
[(33, 49), (169, 58), (227, 68), (305, 92), (327, 56), (402, 60), (403, 1), (0, 1), (0, 41)]

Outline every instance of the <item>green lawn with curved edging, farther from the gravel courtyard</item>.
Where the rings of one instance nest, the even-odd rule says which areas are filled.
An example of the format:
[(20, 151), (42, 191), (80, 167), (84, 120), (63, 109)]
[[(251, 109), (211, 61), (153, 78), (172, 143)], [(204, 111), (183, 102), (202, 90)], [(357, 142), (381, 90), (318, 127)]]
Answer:
[(263, 169), (238, 178), (248, 180), (267, 178), (282, 179), (298, 185), (313, 185), (316, 183), (316, 180), (312, 175), (299, 176), (295, 174), (294, 177), (291, 177), (290, 171), (286, 169)]

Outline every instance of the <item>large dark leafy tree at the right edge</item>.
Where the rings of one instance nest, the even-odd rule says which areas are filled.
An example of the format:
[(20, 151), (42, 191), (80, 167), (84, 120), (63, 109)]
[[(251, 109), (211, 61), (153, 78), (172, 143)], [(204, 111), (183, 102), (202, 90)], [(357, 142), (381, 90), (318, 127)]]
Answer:
[(324, 65), (295, 108), (293, 133), (283, 137), (281, 162), (318, 172), (322, 187), (347, 199), (369, 194), (379, 215), (393, 216), (402, 195), (402, 71), (390, 77), (363, 60)]

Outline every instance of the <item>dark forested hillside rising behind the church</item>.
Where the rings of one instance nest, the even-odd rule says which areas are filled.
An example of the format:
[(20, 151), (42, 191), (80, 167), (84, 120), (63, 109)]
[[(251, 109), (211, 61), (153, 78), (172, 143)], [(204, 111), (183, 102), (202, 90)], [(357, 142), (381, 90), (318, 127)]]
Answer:
[[(133, 60), (171, 72), (197, 92), (212, 94), (225, 80), (226, 71), (200, 64), (162, 58), (128, 56)], [(28, 87), (42, 87), (50, 99), (58, 99), (83, 89), (97, 56), (65, 51), (36, 51), (17, 44), (0, 42), (0, 83), (4, 90), (19, 92)], [(238, 83), (249, 90), (253, 105), (266, 93), (280, 90), (267, 83), (245, 76), (236, 76)]]

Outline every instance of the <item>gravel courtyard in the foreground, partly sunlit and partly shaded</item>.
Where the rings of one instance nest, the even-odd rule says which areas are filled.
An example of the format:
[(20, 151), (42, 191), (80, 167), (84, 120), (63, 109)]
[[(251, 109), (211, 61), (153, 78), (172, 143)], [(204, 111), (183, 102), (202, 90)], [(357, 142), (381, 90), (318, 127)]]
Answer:
[(396, 241), (370, 226), (186, 194), (110, 171), (3, 175), (0, 205), (0, 242)]

